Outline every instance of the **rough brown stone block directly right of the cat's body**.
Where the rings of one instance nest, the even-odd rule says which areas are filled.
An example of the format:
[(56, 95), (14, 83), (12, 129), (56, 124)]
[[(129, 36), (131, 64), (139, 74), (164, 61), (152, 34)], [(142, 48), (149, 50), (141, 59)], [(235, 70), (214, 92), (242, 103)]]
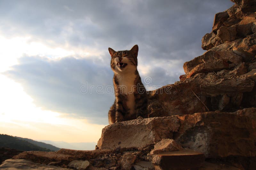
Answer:
[[(182, 81), (178, 84), (170, 84), (151, 91), (148, 95), (149, 117), (163, 117), (204, 112), (204, 105), (191, 91), (192, 89), (204, 102), (205, 99), (201, 96), (200, 90), (201, 81), (202, 79)], [(152, 102), (154, 102), (154, 104), (152, 104)]]

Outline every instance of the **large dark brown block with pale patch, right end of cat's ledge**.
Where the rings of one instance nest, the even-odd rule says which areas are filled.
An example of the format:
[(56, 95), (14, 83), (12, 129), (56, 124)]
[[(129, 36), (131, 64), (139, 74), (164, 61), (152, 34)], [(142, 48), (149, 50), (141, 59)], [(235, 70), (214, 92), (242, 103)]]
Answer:
[(181, 125), (174, 139), (182, 147), (203, 152), (206, 158), (256, 156), (255, 115), (255, 108), (180, 115)]

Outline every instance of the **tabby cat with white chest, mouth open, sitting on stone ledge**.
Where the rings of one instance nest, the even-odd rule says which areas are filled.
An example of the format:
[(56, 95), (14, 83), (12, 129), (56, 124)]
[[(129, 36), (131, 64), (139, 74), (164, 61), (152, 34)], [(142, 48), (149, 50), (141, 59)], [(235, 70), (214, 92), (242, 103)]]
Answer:
[(146, 118), (147, 92), (141, 82), (138, 66), (138, 45), (131, 50), (115, 51), (108, 48), (111, 55), (110, 66), (114, 72), (113, 83), (115, 102), (108, 112), (108, 123)]

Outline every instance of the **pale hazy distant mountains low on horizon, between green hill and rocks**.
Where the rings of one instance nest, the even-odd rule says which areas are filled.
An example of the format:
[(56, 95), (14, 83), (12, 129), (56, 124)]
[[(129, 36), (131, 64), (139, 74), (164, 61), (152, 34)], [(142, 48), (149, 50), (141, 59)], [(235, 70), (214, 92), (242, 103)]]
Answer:
[(79, 142), (79, 143), (68, 143), (63, 141), (51, 141), (51, 140), (38, 140), (47, 144), (57, 146), (59, 148), (74, 149), (74, 150), (94, 150), (96, 142)]

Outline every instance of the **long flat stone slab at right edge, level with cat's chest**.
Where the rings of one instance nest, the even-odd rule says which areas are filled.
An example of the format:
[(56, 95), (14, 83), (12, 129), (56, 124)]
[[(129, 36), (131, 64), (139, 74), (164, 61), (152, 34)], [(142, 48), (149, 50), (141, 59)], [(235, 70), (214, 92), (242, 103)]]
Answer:
[(217, 94), (235, 94), (252, 91), (254, 81), (240, 76), (232, 79), (219, 79), (217, 81), (205, 81), (201, 84), (202, 92), (216, 96)]

